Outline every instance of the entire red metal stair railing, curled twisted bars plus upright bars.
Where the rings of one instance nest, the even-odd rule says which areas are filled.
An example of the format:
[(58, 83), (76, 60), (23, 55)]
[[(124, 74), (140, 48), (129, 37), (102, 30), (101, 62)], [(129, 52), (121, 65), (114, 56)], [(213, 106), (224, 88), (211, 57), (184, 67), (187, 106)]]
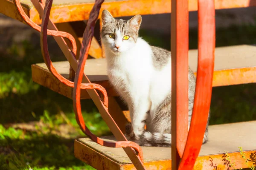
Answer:
[[(134, 142), (127, 141), (108, 113), (108, 96), (106, 90), (98, 84), (90, 83), (87, 76), (83, 73), (93, 37), (94, 26), (104, 0), (96, 0), (90, 12), (90, 17), (83, 35), (79, 62), (76, 61), (75, 39), (66, 32), (58, 31), (54, 23), (49, 20), (52, 0), (46, 0), (45, 3), (40, 3), (39, 0), (31, 1), (42, 17), (42, 27), (29, 19), (23, 11), (19, 0), (13, 0), (23, 20), (32, 28), (41, 31), (42, 55), (49, 71), (59, 81), (74, 88), (73, 107), (81, 130), (98, 144), (107, 147), (123, 147), (134, 166), (139, 170), (145, 169), (143, 165), (143, 153), (140, 146)], [(174, 120), (172, 121), (172, 169), (174, 170), (189, 170), (193, 168), (201, 148), (204, 130), (207, 124), (212, 91), (215, 49), (214, 0), (198, 0), (198, 25), (197, 84), (193, 116), (188, 132), (188, 0), (179, 0), (178, 2), (172, 0), (172, 120)], [(51, 30), (47, 29), (47, 27)], [(73, 74), (72, 71), (76, 72), (75, 82), (65, 79), (52, 65), (47, 47), (47, 35), (54, 36), (65, 57), (70, 62), (70, 66), (73, 68), (73, 70), (70, 69), (70, 74)], [(70, 40), (72, 49), (67, 46), (63, 37)], [(106, 142), (93, 135), (86, 127), (81, 114), (81, 89), (87, 90), (99, 109), (102, 118), (119, 142)], [(102, 93), (102, 98), (95, 89)], [(134, 149), (138, 152), (138, 156)]]

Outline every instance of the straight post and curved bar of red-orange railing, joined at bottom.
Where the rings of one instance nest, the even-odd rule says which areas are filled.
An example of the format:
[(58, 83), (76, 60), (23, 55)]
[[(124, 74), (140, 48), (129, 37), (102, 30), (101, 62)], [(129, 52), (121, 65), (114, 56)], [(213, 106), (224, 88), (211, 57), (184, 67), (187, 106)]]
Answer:
[(192, 170), (203, 143), (212, 95), (214, 0), (198, 0), (198, 71), (188, 133), (188, 0), (172, 0), (172, 170)]

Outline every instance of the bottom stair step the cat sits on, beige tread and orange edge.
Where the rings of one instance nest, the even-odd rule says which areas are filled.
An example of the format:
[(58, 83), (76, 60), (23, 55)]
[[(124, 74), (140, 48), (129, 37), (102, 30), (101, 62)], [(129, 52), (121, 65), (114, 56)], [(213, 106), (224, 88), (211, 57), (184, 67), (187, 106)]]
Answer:
[[(209, 141), (202, 145), (194, 170), (215, 169), (209, 166), (211, 164), (216, 164), (218, 170), (227, 170), (227, 165), (223, 161), (225, 151), (230, 156), (230, 164), (235, 163), (235, 168), (247, 168), (238, 147), (242, 147), (248, 159), (256, 161), (255, 132), (256, 121), (209, 126)], [(102, 138), (116, 141), (113, 136)], [(146, 169), (171, 169), (171, 147), (142, 147), (142, 150)], [(97, 170), (135, 169), (122, 148), (104, 147), (89, 138), (75, 141), (75, 156)], [(253, 164), (250, 161), (248, 163), (249, 165)]]

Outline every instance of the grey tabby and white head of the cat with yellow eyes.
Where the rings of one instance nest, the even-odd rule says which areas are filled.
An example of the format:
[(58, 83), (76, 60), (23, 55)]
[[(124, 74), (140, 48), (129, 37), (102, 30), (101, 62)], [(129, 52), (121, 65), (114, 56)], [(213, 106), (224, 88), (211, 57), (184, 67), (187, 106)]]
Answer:
[(140, 15), (135, 15), (128, 21), (116, 20), (104, 9), (101, 38), (105, 49), (120, 54), (132, 48), (137, 42), (140, 23)]

